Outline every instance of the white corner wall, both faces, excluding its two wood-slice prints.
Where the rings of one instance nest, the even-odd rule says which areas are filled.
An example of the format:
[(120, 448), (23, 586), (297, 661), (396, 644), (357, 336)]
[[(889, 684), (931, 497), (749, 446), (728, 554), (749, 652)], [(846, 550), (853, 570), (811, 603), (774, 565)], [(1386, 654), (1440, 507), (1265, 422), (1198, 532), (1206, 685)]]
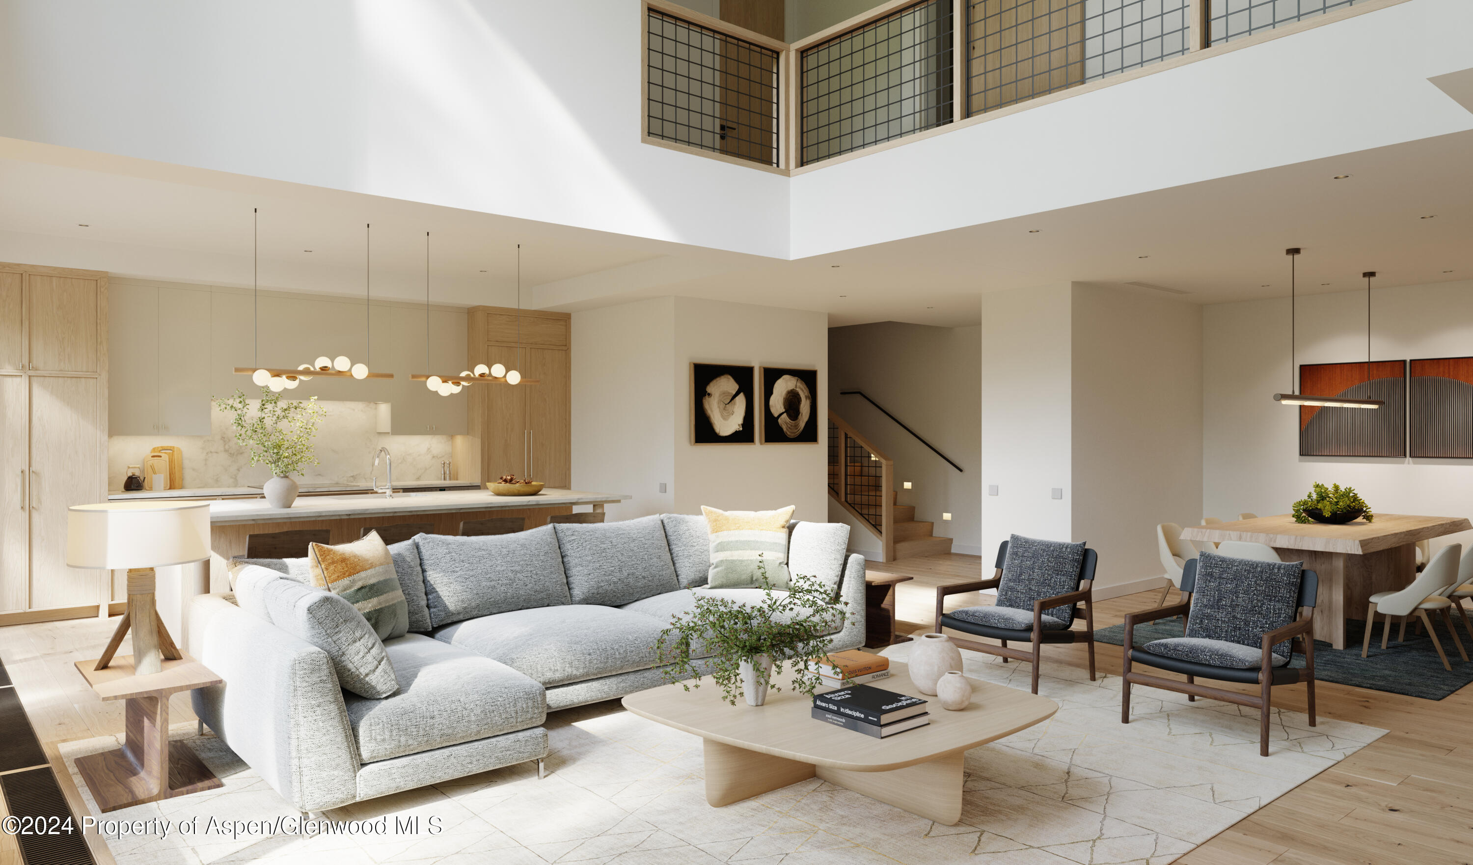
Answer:
[[(692, 361), (816, 368), (819, 444), (692, 445)], [(703, 504), (828, 519), (823, 312), (694, 298), (574, 312), (573, 364), (573, 485), (635, 495), (613, 519)]]

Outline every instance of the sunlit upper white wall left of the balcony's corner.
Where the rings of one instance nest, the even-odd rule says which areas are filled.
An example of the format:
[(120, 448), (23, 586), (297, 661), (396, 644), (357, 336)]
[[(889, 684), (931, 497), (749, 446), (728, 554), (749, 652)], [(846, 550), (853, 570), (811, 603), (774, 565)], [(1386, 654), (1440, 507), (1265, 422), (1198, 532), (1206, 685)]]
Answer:
[(641, 143), (644, 27), (638, 0), (15, 0), (0, 136), (787, 256), (785, 178)]

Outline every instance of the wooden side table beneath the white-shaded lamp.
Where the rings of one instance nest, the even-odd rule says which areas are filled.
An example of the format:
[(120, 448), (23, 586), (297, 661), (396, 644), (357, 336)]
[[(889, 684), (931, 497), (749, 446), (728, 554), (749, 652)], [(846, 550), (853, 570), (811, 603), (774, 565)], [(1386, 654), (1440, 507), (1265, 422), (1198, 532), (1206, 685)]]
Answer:
[(100, 670), (94, 666), (96, 660), (80, 660), (77, 672), (103, 700), (127, 700), (125, 744), (77, 757), (97, 808), (118, 810), (224, 785), (187, 744), (169, 741), (169, 696), (218, 685), (219, 676), (187, 654), (144, 676), (133, 675), (131, 654)]

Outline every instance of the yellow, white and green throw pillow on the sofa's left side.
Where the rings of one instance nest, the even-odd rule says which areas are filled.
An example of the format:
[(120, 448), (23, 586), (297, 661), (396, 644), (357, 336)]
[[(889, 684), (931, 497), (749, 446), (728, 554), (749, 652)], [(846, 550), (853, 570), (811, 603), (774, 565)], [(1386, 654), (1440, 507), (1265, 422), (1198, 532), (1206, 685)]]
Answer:
[(352, 604), (379, 640), (409, 632), (409, 604), (399, 588), (393, 556), (379, 532), (336, 547), (311, 544), (306, 557), (312, 567), (312, 585)]

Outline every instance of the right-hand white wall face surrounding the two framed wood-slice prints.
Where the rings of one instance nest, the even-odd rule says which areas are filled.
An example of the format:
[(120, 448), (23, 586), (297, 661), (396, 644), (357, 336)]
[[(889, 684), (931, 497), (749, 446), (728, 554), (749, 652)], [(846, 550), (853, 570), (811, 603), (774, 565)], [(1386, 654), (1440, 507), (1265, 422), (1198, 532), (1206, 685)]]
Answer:
[[(691, 444), (691, 363), (794, 367), (819, 371), (813, 445), (763, 445), (757, 404), (757, 445)], [(794, 519), (828, 519), (828, 315), (675, 298), (675, 508), (701, 513), (772, 510), (797, 505)]]

